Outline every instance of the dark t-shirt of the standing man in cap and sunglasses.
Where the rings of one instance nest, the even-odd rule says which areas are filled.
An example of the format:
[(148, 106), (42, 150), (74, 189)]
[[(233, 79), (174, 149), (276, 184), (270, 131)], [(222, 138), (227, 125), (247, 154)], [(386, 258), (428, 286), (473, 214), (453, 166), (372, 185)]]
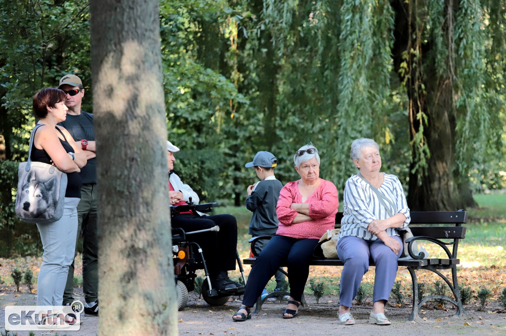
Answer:
[[(65, 127), (75, 141), (82, 139), (95, 141), (93, 114), (91, 113), (81, 111), (78, 116), (67, 114), (67, 119), (58, 123), (58, 125)], [(96, 159), (88, 160), (86, 166), (81, 168), (79, 175), (82, 178), (82, 183), (97, 183)]]

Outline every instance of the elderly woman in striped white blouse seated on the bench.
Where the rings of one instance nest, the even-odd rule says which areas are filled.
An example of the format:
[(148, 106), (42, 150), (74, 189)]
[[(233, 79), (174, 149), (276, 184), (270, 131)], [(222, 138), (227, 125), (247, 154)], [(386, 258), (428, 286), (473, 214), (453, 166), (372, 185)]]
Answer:
[(409, 224), (409, 209), (397, 176), (379, 172), (381, 156), (374, 140), (354, 140), (351, 159), (359, 173), (346, 181), (344, 192), (344, 216), (337, 243), (339, 258), (345, 264), (338, 317), (341, 324), (355, 324), (351, 304), (371, 258), (376, 276), (369, 322), (386, 325), (391, 321), (385, 316), (385, 304), (402, 252), (402, 240), (395, 229)]

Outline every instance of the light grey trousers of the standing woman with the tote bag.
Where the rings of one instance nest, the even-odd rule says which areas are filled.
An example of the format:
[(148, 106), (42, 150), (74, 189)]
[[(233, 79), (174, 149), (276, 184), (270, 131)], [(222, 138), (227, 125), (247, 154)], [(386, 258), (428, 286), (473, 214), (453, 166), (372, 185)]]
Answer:
[(78, 198), (65, 198), (60, 220), (37, 224), (44, 248), (37, 279), (37, 306), (60, 306), (67, 281), (68, 266), (75, 253)]

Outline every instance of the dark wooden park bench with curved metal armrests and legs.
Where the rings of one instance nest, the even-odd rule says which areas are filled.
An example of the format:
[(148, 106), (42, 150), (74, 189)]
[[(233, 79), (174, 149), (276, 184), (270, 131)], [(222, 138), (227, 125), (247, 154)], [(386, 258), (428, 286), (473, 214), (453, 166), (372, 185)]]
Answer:
[[(456, 309), (456, 316), (467, 314), (462, 307), (460, 300), (460, 289), (457, 281), (457, 265), (460, 263), (457, 257), (458, 242), (460, 239), (466, 236), (466, 227), (462, 226), (468, 222), (468, 212), (459, 211), (412, 211), (410, 213), (411, 222), (409, 228), (413, 233), (413, 237), (408, 238), (408, 252), (409, 256), (399, 259), (399, 266), (407, 267), (409, 274), (411, 275), (413, 285), (413, 308), (411, 315), (409, 316), (410, 321), (418, 320), (418, 312), (425, 302), (433, 299), (441, 299), (452, 303)], [(339, 212), (335, 215), (335, 228), (341, 227), (341, 219), (343, 213)], [(258, 239), (264, 238), (269, 239), (270, 237), (255, 237), (249, 239), (251, 243), (251, 251), (255, 251), (254, 244)], [(414, 242), (428, 241), (437, 244), (444, 252), (444, 258), (435, 258), (432, 256), (426, 256), (424, 252), (420, 252), (416, 255), (413, 251)], [(450, 247), (451, 250), (448, 248)], [(246, 258), (243, 263), (251, 265), (255, 262), (256, 258)], [(324, 259), (314, 258), (310, 265), (314, 266), (343, 266), (344, 264), (339, 259)], [(286, 266), (286, 265), (282, 265)], [(372, 261), (370, 266), (374, 266)], [(448, 279), (443, 275), (440, 270), (451, 270), (451, 279)], [(448, 285), (452, 297), (441, 296), (441, 295), (430, 295), (423, 300), (418, 300), (418, 279), (416, 277), (416, 270), (429, 270), (441, 277), (441, 279)], [(284, 272), (284, 271), (283, 271)], [(284, 272), (287, 275), (286, 272)], [(259, 297), (255, 307), (255, 313), (262, 310), (262, 304), (270, 297), (280, 297), (288, 295), (286, 292), (274, 292), (269, 294), (267, 297), (262, 299)], [(302, 298), (302, 304), (305, 305), (304, 297)]]

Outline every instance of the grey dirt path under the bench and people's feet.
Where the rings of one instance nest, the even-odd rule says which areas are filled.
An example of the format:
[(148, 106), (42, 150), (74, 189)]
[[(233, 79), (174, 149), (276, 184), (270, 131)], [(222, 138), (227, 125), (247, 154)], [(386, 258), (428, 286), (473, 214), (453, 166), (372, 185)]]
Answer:
[[(77, 295), (82, 291), (76, 289)], [(0, 292), (0, 332), (4, 333), (5, 306), (34, 305), (33, 294)], [(239, 298), (234, 298), (239, 299)], [(308, 306), (300, 310), (293, 319), (282, 319), (285, 303), (267, 302), (260, 314), (254, 314), (246, 322), (233, 322), (232, 315), (240, 306), (239, 300), (231, 300), (225, 306), (211, 307), (190, 293), (188, 306), (178, 312), (179, 335), (506, 335), (506, 312), (500, 310), (497, 302), (491, 302), (483, 311), (473, 305), (466, 306), (469, 317), (455, 318), (453, 309), (447, 311), (425, 307), (421, 317), (426, 321), (407, 322), (411, 308), (388, 307), (387, 316), (393, 321), (390, 326), (377, 326), (368, 323), (371, 306), (364, 304), (352, 308), (357, 323), (352, 326), (339, 324), (335, 314), (339, 298), (326, 296), (316, 304), (313, 296), (306, 297)], [(79, 331), (58, 331), (58, 334), (72, 336), (95, 336), (98, 334), (98, 317), (82, 316)], [(28, 335), (28, 331), (16, 332), (18, 336)], [(10, 335), (16, 334), (11, 332)], [(55, 335), (54, 331), (35, 331), (35, 335)]]

